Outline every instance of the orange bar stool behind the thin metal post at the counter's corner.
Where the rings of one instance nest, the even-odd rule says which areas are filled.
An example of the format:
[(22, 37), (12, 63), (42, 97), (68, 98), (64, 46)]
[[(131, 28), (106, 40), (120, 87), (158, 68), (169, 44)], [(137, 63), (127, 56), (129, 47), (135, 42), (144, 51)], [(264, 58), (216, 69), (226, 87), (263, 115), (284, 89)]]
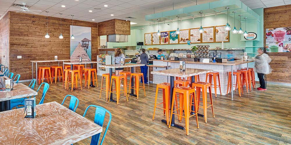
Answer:
[[(244, 92), (242, 90), (242, 79), (241, 79), (241, 75), (242, 74), (240, 72), (233, 72), (233, 76), (236, 77), (236, 83), (233, 84), (234, 85), (233, 87), (235, 87), (235, 90), (236, 90), (236, 88), (238, 88), (239, 97), (242, 97), (240, 92), (242, 92), (242, 95), (244, 95)], [(228, 92), (228, 90), (229, 90), (229, 92)], [(226, 95), (228, 93), (230, 93), (230, 90), (231, 90), (231, 72), (228, 72), (228, 83), (227, 83)]]

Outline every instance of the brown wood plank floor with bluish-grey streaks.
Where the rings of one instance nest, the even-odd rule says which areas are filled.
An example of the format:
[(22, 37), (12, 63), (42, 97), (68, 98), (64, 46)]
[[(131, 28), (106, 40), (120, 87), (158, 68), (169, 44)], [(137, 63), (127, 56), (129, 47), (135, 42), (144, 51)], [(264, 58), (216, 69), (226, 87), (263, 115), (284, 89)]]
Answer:
[[(104, 144), (291, 144), (291, 86), (268, 84), (267, 91), (253, 89), (242, 97), (234, 93), (233, 101), (230, 95), (217, 95), (217, 98), (213, 98), (215, 118), (209, 108), (207, 124), (203, 117), (198, 117), (200, 129), (197, 129), (195, 116), (191, 117), (189, 136), (186, 136), (185, 130), (168, 128), (161, 122), (165, 119), (161, 109), (156, 110), (155, 120), (152, 120), (155, 84), (146, 85), (147, 97), (140, 91), (139, 100), (129, 97), (129, 102), (126, 102), (126, 98), (121, 97), (117, 105), (106, 102), (105, 93), (99, 99), (100, 80), (98, 76), (99, 88), (83, 88), (73, 92), (62, 88), (61, 82), (50, 84), (44, 102), (61, 103), (70, 94), (79, 98), (76, 112), (80, 115), (91, 104), (109, 110), (112, 120)], [(116, 98), (115, 95), (113, 98)], [(37, 102), (39, 99), (40, 96)], [(158, 101), (161, 100), (160, 95)], [(65, 106), (68, 106), (68, 102)], [(88, 110), (86, 118), (93, 120), (94, 111)], [(199, 109), (199, 112), (203, 113), (203, 109)], [(105, 120), (104, 124), (107, 124), (108, 115)], [(178, 124), (185, 126), (184, 123), (183, 120)], [(88, 138), (76, 144), (90, 144), (90, 141), (91, 138)]]

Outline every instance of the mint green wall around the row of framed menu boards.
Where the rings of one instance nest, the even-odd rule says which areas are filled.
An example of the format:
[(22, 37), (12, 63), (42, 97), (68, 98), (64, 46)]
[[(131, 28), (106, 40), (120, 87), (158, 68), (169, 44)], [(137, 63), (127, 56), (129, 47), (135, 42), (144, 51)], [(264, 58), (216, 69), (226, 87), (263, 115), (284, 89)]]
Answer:
[[(238, 15), (238, 14), (237, 14)], [(230, 24), (231, 28), (234, 26), (234, 18), (228, 17), (228, 23)], [(210, 26), (220, 26), (220, 25), (226, 25), (226, 14), (218, 14), (217, 16), (206, 16), (203, 18), (202, 15), (202, 27), (210, 27)], [(167, 25), (170, 24), (170, 25)], [(235, 21), (236, 28), (239, 29), (239, 20)], [(177, 21), (167, 22), (164, 24), (164, 22), (160, 22), (160, 31), (168, 31), (168, 30), (176, 30), (178, 26)], [(200, 18), (193, 19), (185, 19), (182, 20), (182, 22), (179, 20), (179, 29), (189, 29), (189, 28), (199, 28), (200, 27)], [(158, 30), (158, 24), (149, 26), (148, 24), (145, 26), (137, 26), (137, 27), (131, 27), (131, 30), (133, 29), (140, 29), (141, 30), (141, 41), (144, 41), (144, 33), (149, 32), (157, 32)], [(244, 41), (241, 40), (241, 35), (239, 34), (232, 34), (230, 32), (230, 42), (224, 43), (224, 48), (240, 48), (242, 46), (245, 46)], [(210, 45), (210, 48), (215, 48), (216, 46), (221, 47), (221, 43), (202, 43), (203, 45)], [(198, 45), (198, 44), (191, 44), (191, 46)], [(188, 44), (171, 44), (171, 45), (150, 45), (150, 46), (144, 46), (145, 48), (152, 48), (157, 47), (161, 49), (183, 49), (183, 48), (191, 48)]]

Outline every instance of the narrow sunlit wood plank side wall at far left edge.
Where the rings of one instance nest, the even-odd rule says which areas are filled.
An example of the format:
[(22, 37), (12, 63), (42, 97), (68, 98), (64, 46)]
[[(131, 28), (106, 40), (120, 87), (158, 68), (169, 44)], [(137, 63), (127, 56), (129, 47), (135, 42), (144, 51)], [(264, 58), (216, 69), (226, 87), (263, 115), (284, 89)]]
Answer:
[(0, 20), (0, 63), (9, 68), (9, 13)]

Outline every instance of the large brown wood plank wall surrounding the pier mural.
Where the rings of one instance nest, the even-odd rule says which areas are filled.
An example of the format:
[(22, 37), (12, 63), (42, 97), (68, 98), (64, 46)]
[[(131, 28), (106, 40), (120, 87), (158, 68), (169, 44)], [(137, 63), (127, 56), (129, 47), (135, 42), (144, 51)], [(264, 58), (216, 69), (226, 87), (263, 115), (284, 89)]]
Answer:
[[(58, 56), (58, 59), (70, 59), (70, 25), (72, 25), (72, 19), (62, 19), (64, 38), (59, 39), (60, 18), (48, 17), (50, 38), (46, 39), (46, 16), (8, 13), (10, 14), (10, 70), (15, 75), (20, 74), (20, 80), (32, 78), (31, 60), (53, 60), (55, 55)], [(74, 20), (74, 26), (91, 27), (92, 61), (97, 61), (98, 48), (100, 48), (98, 23)], [(21, 55), (22, 59), (17, 59), (18, 55)], [(52, 65), (57, 65), (57, 63), (38, 64), (38, 66)]]

